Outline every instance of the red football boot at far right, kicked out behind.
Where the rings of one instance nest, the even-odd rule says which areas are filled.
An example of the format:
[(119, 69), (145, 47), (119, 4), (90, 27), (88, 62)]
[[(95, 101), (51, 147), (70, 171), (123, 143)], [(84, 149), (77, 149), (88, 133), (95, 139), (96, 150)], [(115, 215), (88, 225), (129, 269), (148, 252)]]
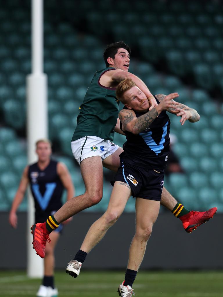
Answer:
[(188, 233), (191, 233), (201, 224), (213, 218), (213, 215), (216, 214), (216, 212), (217, 207), (213, 207), (207, 211), (190, 211), (188, 214), (184, 214), (183, 216), (179, 217), (179, 219), (181, 219), (183, 223), (184, 230)]

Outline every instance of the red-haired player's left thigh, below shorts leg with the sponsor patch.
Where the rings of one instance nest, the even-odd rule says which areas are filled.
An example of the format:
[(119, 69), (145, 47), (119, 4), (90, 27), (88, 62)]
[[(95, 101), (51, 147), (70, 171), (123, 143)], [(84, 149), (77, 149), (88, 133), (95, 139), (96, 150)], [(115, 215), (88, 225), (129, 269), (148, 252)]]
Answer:
[(130, 196), (131, 189), (128, 184), (123, 181), (115, 181), (107, 211), (115, 212), (117, 215), (122, 214)]

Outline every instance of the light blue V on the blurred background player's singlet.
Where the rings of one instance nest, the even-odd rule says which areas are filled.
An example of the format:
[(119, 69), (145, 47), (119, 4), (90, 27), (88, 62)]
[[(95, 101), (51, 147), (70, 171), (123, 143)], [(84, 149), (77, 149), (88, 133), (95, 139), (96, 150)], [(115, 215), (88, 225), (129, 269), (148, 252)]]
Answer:
[(37, 201), (39, 202), (40, 207), (43, 210), (47, 208), (55, 188), (56, 188), (56, 183), (47, 183), (45, 193), (42, 197), (42, 195), (40, 194), (39, 185), (38, 184), (32, 185), (32, 190), (36, 196)]

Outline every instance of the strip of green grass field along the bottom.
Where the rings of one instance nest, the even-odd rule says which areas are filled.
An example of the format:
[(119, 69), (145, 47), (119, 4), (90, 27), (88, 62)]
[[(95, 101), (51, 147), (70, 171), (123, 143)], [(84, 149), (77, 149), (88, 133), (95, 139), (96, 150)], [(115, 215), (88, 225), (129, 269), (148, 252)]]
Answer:
[[(117, 288), (125, 271), (81, 271), (74, 279), (64, 271), (55, 276), (59, 297), (119, 296)], [(24, 271), (0, 271), (0, 297), (32, 297), (40, 279), (28, 279)], [(220, 297), (222, 271), (139, 271), (134, 284), (136, 297)]]

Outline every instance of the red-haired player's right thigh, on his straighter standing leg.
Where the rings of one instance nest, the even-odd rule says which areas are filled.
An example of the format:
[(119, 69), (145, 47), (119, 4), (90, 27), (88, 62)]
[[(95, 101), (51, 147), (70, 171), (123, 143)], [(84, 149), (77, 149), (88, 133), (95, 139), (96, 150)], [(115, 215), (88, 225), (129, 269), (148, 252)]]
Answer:
[(151, 228), (159, 214), (160, 201), (136, 198), (136, 229)]

